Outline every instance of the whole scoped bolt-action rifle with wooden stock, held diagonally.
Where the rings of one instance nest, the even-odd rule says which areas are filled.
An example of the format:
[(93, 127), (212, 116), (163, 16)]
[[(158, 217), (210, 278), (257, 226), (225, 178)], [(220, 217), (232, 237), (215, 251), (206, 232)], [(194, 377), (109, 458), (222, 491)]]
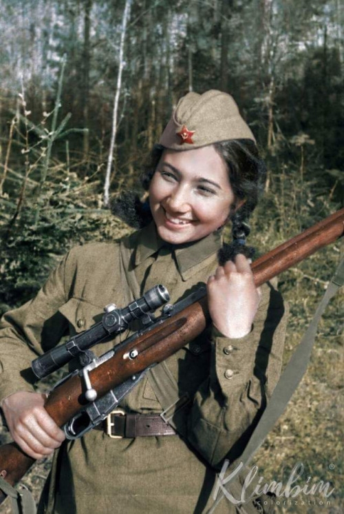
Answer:
[[(296, 265), (317, 249), (333, 243), (343, 234), (344, 209), (341, 209), (257, 259), (252, 264), (256, 285), (261, 285)], [(151, 302), (154, 308), (162, 305), (168, 295), (162, 286), (155, 289), (155, 294), (158, 300), (154, 296), (155, 300)], [(147, 298), (151, 298), (150, 291), (146, 295), (148, 295)], [(139, 311), (133, 304), (119, 311), (116, 307), (108, 308), (102, 327), (99, 324), (94, 325), (85, 332), (87, 333), (87, 336), (84, 336), (85, 339), (80, 337), (83, 334), (79, 334), (67, 342), (67, 347), (65, 346), (61, 352), (58, 349), (57, 353), (50, 352), (38, 362), (34, 361), (33, 367), (36, 368), (36, 373), (41, 373), (39, 370), (43, 369), (43, 374), (40, 376), (44, 376), (44, 373), (50, 373), (55, 366), (60, 366), (61, 361), (67, 362), (65, 359), (69, 360), (69, 356), (71, 354), (74, 356), (76, 351), (89, 358), (89, 362), (80, 371), (72, 373), (56, 385), (45, 403), (47, 413), (58, 426), (65, 429), (67, 437), (78, 437), (88, 429), (92, 429), (94, 424), (103, 419), (102, 416), (105, 417), (108, 409), (112, 410), (116, 402), (119, 402), (120, 398), (142, 378), (147, 369), (184, 347), (205, 329), (209, 321), (205, 287), (197, 289), (193, 295), (174, 306), (165, 306), (162, 315), (156, 319), (149, 314), (152, 307), (147, 298), (145, 296), (142, 298), (133, 304), (140, 304), (143, 311), (141, 317), (147, 321), (147, 327), (100, 358), (92, 358), (92, 356), (89, 358), (88, 348), (94, 342), (87, 347), (88, 342), (84, 341), (88, 341), (90, 334), (93, 341), (94, 332), (98, 333), (98, 330), (100, 340), (109, 336), (107, 315), (111, 314), (111, 311), (116, 311), (116, 314), (112, 312), (116, 322), (114, 325), (110, 323), (111, 327), (117, 327), (118, 331), (122, 331), (125, 323), (137, 317), (136, 314)], [(131, 307), (134, 308), (131, 309)], [(114, 332), (116, 332), (115, 329), (112, 333)], [(6, 444), (0, 448), (0, 476), (10, 485), (19, 482), (33, 462), (34, 460), (23, 453), (15, 443)], [(0, 491), (0, 504), (5, 497), (6, 493)]]

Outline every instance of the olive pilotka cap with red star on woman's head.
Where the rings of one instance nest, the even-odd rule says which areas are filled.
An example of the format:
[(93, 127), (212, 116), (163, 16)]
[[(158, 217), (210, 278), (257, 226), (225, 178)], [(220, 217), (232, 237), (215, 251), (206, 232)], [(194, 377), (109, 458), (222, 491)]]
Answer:
[(171, 150), (193, 150), (240, 138), (255, 142), (233, 97), (210, 90), (204, 94), (191, 92), (180, 99), (159, 143)]

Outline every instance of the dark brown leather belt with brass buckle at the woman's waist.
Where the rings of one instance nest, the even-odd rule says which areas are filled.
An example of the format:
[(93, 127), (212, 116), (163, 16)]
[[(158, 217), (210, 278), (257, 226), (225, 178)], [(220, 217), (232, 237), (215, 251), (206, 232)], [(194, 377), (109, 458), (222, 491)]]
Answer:
[(159, 414), (131, 414), (122, 409), (111, 412), (103, 423), (94, 426), (113, 439), (138, 438), (146, 435), (176, 435)]

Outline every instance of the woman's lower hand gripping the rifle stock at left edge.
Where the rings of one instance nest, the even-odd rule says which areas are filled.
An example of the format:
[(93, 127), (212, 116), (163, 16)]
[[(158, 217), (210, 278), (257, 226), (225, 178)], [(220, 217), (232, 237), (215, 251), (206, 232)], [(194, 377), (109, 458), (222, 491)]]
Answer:
[(1, 402), (12, 438), (33, 459), (42, 459), (61, 446), (65, 433), (44, 409), (46, 396), (20, 391)]

